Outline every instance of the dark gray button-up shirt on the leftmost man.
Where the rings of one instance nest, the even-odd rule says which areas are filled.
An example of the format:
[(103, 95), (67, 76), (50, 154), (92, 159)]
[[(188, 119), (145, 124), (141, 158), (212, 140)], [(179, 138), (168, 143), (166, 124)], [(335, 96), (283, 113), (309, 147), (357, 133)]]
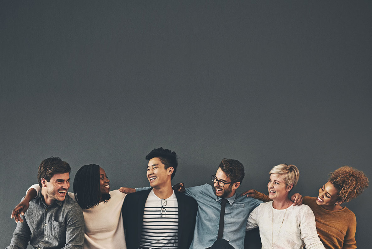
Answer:
[(80, 206), (66, 195), (64, 201), (45, 205), (41, 191), (18, 222), (6, 249), (80, 249), (84, 243), (84, 217)]

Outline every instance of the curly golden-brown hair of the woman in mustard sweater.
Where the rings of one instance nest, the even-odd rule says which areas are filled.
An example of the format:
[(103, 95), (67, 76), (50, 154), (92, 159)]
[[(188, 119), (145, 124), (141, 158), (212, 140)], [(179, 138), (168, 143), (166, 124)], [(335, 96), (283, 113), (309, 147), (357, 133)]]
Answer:
[(337, 196), (344, 202), (348, 202), (368, 187), (368, 178), (356, 168), (344, 166), (330, 173), (329, 182), (339, 192)]

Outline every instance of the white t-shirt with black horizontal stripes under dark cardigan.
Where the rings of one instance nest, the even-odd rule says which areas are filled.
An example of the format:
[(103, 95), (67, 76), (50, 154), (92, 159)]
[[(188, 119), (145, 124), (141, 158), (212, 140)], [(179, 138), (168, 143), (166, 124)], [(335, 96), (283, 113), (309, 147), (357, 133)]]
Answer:
[(174, 191), (167, 199), (157, 197), (154, 189), (148, 194), (139, 248), (178, 248), (178, 202)]

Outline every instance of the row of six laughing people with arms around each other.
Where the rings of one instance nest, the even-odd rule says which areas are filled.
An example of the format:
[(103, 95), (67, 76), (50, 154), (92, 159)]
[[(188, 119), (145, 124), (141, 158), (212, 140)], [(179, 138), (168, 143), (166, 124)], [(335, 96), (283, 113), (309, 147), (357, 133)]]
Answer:
[[(243, 249), (247, 230), (259, 227), (263, 249), (356, 248), (356, 219), (341, 205), (368, 187), (363, 172), (344, 166), (330, 174), (317, 197), (289, 193), (299, 179), (294, 165), (269, 171), (268, 195), (237, 193), (244, 166), (222, 159), (213, 185), (171, 185), (177, 155), (153, 149), (147, 156), (150, 187), (110, 191), (105, 170), (82, 166), (70, 187), (70, 165), (47, 158), (38, 184), (13, 209), (17, 222), (7, 249)], [(302, 204), (302, 202), (304, 204)], [(27, 211), (26, 211), (27, 210)]]

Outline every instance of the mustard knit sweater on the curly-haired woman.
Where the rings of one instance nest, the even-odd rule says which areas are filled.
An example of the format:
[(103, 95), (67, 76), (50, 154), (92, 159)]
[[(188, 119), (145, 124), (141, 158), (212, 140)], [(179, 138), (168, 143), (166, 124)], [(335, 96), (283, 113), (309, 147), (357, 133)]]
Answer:
[[(256, 191), (256, 199), (271, 201), (269, 196)], [(355, 214), (349, 208), (329, 211), (319, 206), (315, 197), (305, 196), (303, 204), (308, 205), (315, 216), (319, 238), (326, 249), (355, 249)]]

